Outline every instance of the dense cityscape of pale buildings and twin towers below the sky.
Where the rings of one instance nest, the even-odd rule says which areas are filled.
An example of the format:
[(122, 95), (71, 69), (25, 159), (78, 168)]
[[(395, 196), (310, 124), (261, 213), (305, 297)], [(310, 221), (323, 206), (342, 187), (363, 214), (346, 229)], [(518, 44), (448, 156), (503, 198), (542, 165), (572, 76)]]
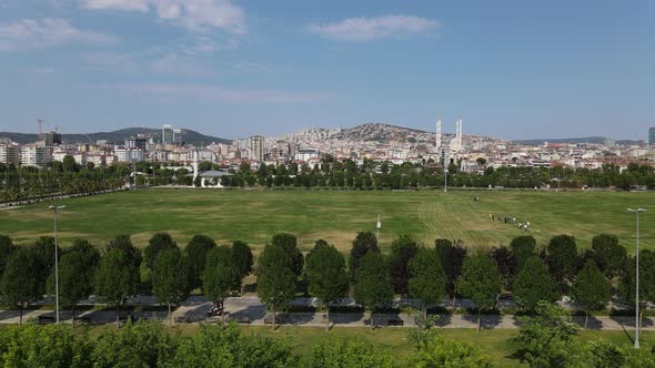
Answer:
[[(27, 144), (12, 142), (0, 133), (0, 163), (44, 166), (51, 161), (63, 161), (70, 155), (79, 165), (95, 166), (124, 162), (183, 163), (211, 162), (222, 168), (250, 164), (256, 170), (266, 165), (319, 164), (322, 156), (362, 165), (364, 160), (387, 161), (393, 164), (458, 163), (462, 172), (483, 173), (486, 167), (555, 167), (601, 168), (613, 164), (627, 170), (632, 162), (655, 161), (655, 129), (648, 142), (604, 142), (528, 144), (463, 134), (462, 120), (454, 124), (455, 133), (442, 133), (442, 121), (436, 133), (386, 124), (363, 124), (352, 129), (308, 129), (296, 133), (233, 140), (231, 143), (211, 142), (205, 145), (187, 144), (184, 130), (163, 125), (158, 133), (138, 134), (123, 142), (67, 142), (57, 132), (42, 132), (40, 140)], [(593, 140), (590, 140), (593, 141)], [(597, 141), (597, 139), (596, 139)], [(480, 162), (485, 164), (481, 165)]]

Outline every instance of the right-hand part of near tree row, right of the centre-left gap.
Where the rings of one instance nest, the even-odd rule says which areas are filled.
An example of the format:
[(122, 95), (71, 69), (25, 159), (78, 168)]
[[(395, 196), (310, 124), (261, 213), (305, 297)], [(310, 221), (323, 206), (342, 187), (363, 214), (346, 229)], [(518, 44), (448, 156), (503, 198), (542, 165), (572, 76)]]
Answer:
[[(503, 293), (511, 293), (516, 306), (525, 311), (562, 295), (571, 295), (587, 317), (604, 309), (615, 295), (632, 306), (633, 264), (617, 237), (606, 234), (594, 237), (592, 248), (582, 253), (568, 235), (553, 237), (543, 249), (537, 249), (534, 237), (521, 236), (508, 247), (491, 251), (470, 251), (461, 242), (447, 239), (437, 239), (434, 248), (426, 248), (401, 236), (393, 242), (391, 254), (383, 255), (372, 233), (360, 233), (347, 270), (343, 255), (324, 241), (316, 242), (303, 269), (295, 237), (279, 234), (260, 257), (258, 292), (273, 315), (295, 296), (299, 280), (308, 283), (309, 293), (326, 310), (331, 303), (352, 294), (373, 314), (400, 294), (420, 300), (426, 317), (427, 308), (441, 304), (444, 297), (462, 296), (475, 304), (480, 328), (481, 313), (495, 309)], [(641, 300), (655, 301), (655, 253), (643, 251), (639, 266), (641, 285), (645, 285)]]

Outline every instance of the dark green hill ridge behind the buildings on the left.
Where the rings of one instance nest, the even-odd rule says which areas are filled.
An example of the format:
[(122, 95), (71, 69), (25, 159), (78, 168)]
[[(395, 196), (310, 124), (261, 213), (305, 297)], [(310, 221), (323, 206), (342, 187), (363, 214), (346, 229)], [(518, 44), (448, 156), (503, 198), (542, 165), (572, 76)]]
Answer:
[[(154, 142), (161, 142), (161, 130), (152, 127), (125, 127), (112, 132), (97, 132), (88, 134), (62, 134), (61, 140), (64, 143), (95, 143), (95, 141), (107, 140), (109, 143), (123, 144), (125, 139), (143, 134), (147, 137), (152, 137)], [(232, 143), (232, 140), (222, 139), (218, 136), (204, 135), (202, 133), (183, 129), (182, 139), (184, 143), (189, 144), (210, 144), (214, 143)], [(36, 142), (39, 139), (39, 134), (24, 134), (24, 133), (12, 133), (12, 132), (0, 132), (0, 136), (10, 137), (12, 141), (26, 144)]]

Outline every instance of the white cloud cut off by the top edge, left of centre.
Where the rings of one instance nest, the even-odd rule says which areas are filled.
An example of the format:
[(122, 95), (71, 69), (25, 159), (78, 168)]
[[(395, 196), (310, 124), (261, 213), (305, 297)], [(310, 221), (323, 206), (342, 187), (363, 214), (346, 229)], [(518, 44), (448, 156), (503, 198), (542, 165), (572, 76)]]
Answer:
[(160, 19), (195, 31), (222, 29), (236, 34), (246, 32), (244, 11), (230, 0), (82, 0), (82, 3), (95, 10), (153, 10)]

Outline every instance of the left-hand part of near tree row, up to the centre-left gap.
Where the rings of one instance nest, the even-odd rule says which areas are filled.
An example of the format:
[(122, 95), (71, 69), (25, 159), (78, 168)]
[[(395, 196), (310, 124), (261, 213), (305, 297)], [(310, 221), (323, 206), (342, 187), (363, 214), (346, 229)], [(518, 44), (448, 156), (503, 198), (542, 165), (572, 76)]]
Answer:
[[(77, 305), (90, 295), (98, 295), (119, 309), (143, 287), (141, 270), (150, 275), (152, 294), (168, 306), (187, 298), (202, 287), (205, 296), (216, 303), (239, 292), (241, 280), (252, 272), (253, 257), (248, 244), (234, 242), (231, 247), (216, 246), (213, 239), (195, 235), (181, 251), (167, 233), (158, 233), (141, 252), (129, 236), (109, 242), (101, 254), (87, 241), (74, 241), (59, 249), (59, 295), (63, 307), (74, 313)], [(54, 242), (41, 237), (33, 246), (16, 246), (11, 238), (0, 236), (0, 298), (23, 309), (43, 295), (52, 295)], [(148, 283), (147, 283), (148, 284)]]

